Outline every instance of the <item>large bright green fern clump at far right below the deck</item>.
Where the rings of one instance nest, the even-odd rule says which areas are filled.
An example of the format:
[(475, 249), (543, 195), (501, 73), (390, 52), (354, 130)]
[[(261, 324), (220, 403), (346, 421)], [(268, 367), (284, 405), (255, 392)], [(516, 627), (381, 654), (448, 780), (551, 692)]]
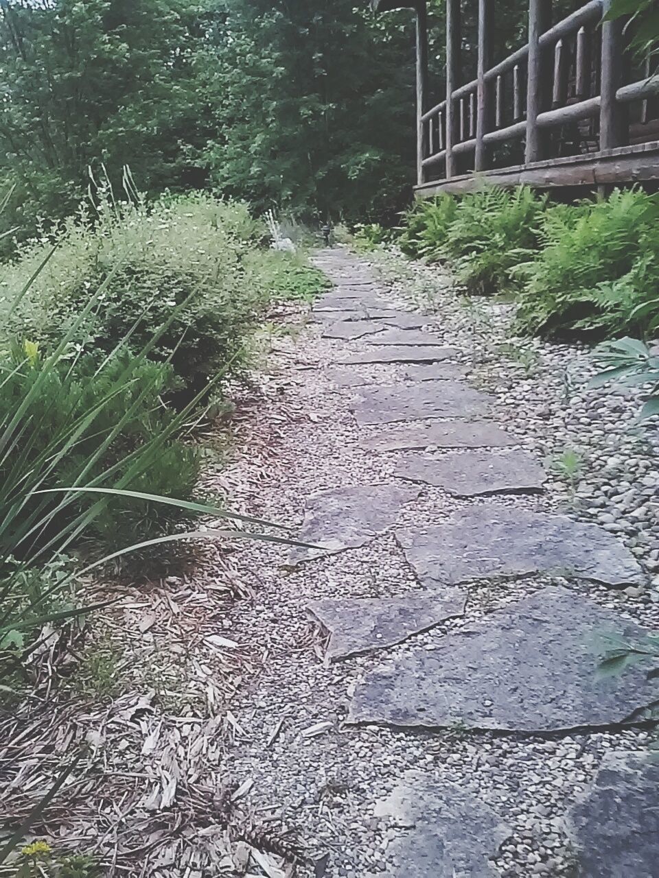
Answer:
[(518, 266), (518, 325), (528, 333), (640, 333), (659, 318), (659, 196), (610, 198), (547, 211), (542, 248)]

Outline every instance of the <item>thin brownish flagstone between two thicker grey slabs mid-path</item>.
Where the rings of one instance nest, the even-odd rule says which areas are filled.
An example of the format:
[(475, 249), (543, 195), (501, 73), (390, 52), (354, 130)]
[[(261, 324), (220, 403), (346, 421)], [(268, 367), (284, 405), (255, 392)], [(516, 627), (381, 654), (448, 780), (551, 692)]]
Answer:
[(370, 439), (360, 439), (367, 451), (429, 448), (505, 448), (516, 440), (491, 421), (434, 421), (396, 427)]

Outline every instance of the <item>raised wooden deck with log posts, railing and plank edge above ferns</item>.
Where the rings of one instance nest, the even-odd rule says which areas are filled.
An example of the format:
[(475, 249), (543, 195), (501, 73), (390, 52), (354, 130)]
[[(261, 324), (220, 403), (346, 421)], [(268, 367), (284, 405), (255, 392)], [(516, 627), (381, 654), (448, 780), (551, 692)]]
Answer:
[(496, 63), (495, 0), (472, 2), (475, 76), (460, 83), (464, 4), (446, 0), (445, 97), (429, 108), (426, 0), (372, 0), (376, 11), (416, 13), (418, 196), (484, 182), (562, 188), (659, 181), (659, 75), (649, 58), (634, 68), (624, 21), (602, 20), (610, 0), (590, 0), (555, 22), (551, 0), (529, 0), (528, 42)]

